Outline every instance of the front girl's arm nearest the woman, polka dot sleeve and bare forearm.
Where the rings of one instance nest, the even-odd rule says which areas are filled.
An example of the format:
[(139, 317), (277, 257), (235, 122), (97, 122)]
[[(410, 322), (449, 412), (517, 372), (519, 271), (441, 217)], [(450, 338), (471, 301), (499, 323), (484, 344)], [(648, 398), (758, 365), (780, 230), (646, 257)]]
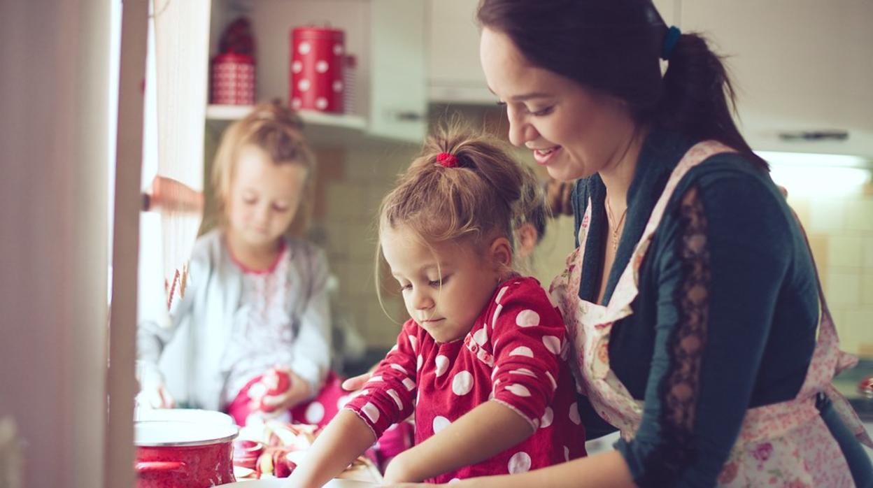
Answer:
[(507, 282), (495, 299), (493, 315), (477, 333), (498, 343), (492, 360), (492, 400), (395, 457), (388, 465), (387, 481), (420, 481), (477, 464), (539, 428), (553, 400), (554, 378), (560, 378), (564, 325), (546, 292), (532, 281)]

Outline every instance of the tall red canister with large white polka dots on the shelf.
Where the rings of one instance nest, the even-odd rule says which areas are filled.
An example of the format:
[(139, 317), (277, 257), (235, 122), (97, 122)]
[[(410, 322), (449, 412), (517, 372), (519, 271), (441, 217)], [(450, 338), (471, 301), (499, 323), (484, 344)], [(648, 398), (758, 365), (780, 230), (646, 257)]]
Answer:
[(295, 110), (343, 113), (346, 34), (328, 27), (296, 27), (291, 34), (289, 89)]

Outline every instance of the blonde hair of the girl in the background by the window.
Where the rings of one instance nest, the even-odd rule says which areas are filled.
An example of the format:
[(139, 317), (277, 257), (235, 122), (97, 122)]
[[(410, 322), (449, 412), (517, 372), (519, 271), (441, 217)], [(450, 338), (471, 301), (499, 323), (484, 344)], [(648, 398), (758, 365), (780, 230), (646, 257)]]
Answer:
[(224, 131), (212, 167), (216, 210), (221, 222), (226, 221), (230, 182), (233, 181), (240, 149), (245, 146), (261, 149), (275, 164), (300, 164), (307, 169), (299, 209), (286, 230), (295, 234), (304, 232), (312, 215), (315, 156), (303, 137), (303, 120), (278, 100), (259, 103), (244, 119), (237, 120)]

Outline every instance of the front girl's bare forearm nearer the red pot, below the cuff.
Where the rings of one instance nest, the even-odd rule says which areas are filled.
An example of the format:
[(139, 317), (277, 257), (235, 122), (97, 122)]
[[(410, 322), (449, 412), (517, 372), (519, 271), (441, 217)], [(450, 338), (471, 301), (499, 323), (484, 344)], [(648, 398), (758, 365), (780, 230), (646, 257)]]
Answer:
[(306, 460), (292, 472), (289, 486), (324, 485), (340, 474), (355, 457), (375, 443), (373, 430), (354, 412), (341, 409), (306, 452)]

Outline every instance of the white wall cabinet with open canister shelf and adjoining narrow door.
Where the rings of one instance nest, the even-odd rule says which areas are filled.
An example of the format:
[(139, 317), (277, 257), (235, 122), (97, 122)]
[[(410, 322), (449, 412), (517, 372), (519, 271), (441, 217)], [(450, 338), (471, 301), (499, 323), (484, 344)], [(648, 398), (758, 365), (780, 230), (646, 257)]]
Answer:
[[(300, 25), (330, 25), (345, 31), (346, 50), (357, 61), (353, 114), (301, 111), (313, 131), (365, 132), (421, 141), (426, 125), (424, 93), (424, 0), (213, 0), (210, 56), (224, 28), (244, 15), (251, 20), (257, 56), (255, 96), (288, 100), (291, 31)], [(217, 127), (245, 108), (209, 107)], [(336, 129), (340, 129), (337, 131)], [(317, 138), (318, 139), (318, 138)]]

